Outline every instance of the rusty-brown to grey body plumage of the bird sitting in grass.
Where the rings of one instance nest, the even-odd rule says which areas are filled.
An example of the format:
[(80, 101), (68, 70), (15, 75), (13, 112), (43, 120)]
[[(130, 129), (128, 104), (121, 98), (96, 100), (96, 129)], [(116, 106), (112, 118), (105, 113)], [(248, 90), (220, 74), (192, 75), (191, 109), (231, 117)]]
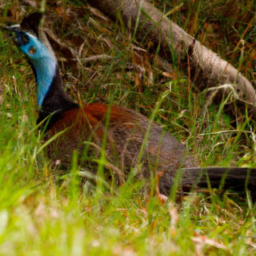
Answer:
[[(73, 150), (78, 149), (79, 164), (84, 165), (92, 151), (99, 155), (105, 137), (106, 158), (112, 166), (124, 174), (136, 168), (138, 178), (149, 179), (150, 172), (153, 175), (165, 173), (163, 177), (168, 175), (168, 181), (160, 179), (160, 191), (165, 194), (169, 193), (179, 167), (195, 166), (192, 157), (184, 159), (185, 147), (176, 138), (127, 108), (95, 103), (68, 110), (49, 130), (48, 136), (53, 137), (63, 130), (64, 134), (51, 143), (53, 159), (69, 166)], [(88, 157), (82, 156), (85, 150)], [(118, 178), (122, 180), (120, 175)]]

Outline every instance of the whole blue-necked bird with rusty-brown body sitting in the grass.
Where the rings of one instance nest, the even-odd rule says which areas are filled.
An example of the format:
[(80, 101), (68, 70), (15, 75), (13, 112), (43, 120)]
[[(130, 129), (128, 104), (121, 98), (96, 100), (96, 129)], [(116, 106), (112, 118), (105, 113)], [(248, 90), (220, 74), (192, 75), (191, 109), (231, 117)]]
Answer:
[[(50, 140), (48, 155), (69, 167), (73, 152), (78, 164), (86, 166), (90, 159), (105, 159), (105, 167), (122, 185), (132, 175), (150, 183), (157, 180), (160, 194), (168, 196), (181, 173), (181, 190), (197, 186), (234, 188), (245, 192), (247, 186), (255, 200), (256, 169), (204, 167), (185, 146), (168, 131), (144, 115), (123, 106), (103, 103), (79, 105), (63, 89), (56, 57), (38, 37), (38, 29), (29, 31), (28, 23), (39, 26), (42, 14), (34, 13), (20, 26), (9, 26), (14, 43), (26, 56), (37, 84), (37, 124)], [(28, 22), (31, 19), (34, 22)], [(97, 161), (94, 161), (97, 163)], [(92, 170), (93, 171), (93, 170)], [(250, 174), (250, 175), (249, 175)], [(248, 176), (249, 175), (249, 176)], [(247, 183), (246, 183), (247, 182)]]

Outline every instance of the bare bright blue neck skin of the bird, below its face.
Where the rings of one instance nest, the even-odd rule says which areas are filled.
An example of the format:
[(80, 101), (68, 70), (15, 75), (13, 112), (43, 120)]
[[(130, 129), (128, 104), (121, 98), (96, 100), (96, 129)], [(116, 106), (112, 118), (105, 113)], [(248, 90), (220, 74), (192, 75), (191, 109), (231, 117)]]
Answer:
[(35, 70), (37, 82), (37, 104), (42, 107), (44, 98), (49, 91), (56, 72), (56, 63), (49, 57), (42, 57), (39, 60), (30, 59)]

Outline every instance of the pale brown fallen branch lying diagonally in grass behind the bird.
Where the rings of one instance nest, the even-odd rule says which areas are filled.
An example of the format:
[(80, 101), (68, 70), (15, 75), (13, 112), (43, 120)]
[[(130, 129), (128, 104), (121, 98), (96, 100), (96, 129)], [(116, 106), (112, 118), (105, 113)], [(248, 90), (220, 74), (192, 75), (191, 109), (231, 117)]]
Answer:
[[(195, 41), (193, 44), (193, 37), (151, 3), (145, 0), (88, 0), (88, 3), (114, 19), (121, 15), (126, 26), (136, 33), (137, 40), (151, 41), (156, 46), (160, 43), (169, 56), (172, 56), (172, 50), (182, 56), (189, 46), (194, 45), (189, 55), (196, 82), (207, 82), (210, 87), (235, 84), (234, 95), (239, 95), (240, 101), (247, 103), (250, 113), (256, 117), (256, 95), (248, 79), (200, 42)], [(225, 87), (223, 92), (227, 95), (231, 90), (230, 87)]]

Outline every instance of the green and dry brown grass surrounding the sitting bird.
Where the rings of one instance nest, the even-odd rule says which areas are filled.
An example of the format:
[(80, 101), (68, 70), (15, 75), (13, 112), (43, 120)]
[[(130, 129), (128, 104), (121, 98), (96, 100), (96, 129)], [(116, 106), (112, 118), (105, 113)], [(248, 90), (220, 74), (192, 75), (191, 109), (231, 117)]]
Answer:
[[(207, 39), (201, 33), (199, 39), (204, 38), (207, 46), (212, 45), (238, 67), (240, 54), (227, 51), (234, 48), (235, 36), (221, 37), (234, 22), (217, 12), (222, 1), (195, 2), (201, 4), (201, 9), (185, 5), (172, 18), (186, 29), (191, 26), (190, 19), (199, 26), (209, 14), (209, 2), (214, 3), (208, 26), (215, 22), (225, 26), (220, 26), (223, 30), (219, 34), (214, 31), (214, 44), (211, 35)], [(155, 4), (164, 12), (172, 8), (168, 1)], [(18, 3), (13, 5), (19, 7)], [(193, 16), (195, 9), (197, 17)], [(15, 11), (19, 13), (20, 9)], [(105, 53), (113, 59), (83, 63), (80, 77), (74, 75), (72, 67), (63, 68), (66, 84), (72, 84), (66, 88), (69, 94), (81, 101), (124, 105), (148, 117), (154, 112), (155, 121), (186, 141), (202, 165), (255, 166), (250, 127), (254, 130), (249, 118), (234, 128), (234, 119), (224, 106), (205, 107), (208, 92), (189, 84), (186, 75), (175, 69), (175, 63), (176, 78), (170, 79), (147, 53), (131, 50), (128, 33), (120, 24), (105, 23), (88, 8), (84, 12), (79, 16), (81, 30), (69, 28), (70, 23), (58, 29), (58, 21), (54, 20), (55, 33), (73, 47), (86, 38), (81, 58)], [(187, 19), (184, 13), (189, 13)], [(3, 20), (6, 14), (7, 10), (1, 9)], [(88, 22), (90, 18), (100, 27)], [(242, 34), (246, 27), (246, 21), (241, 21), (236, 29)], [(253, 31), (246, 36), (253, 36)], [(156, 197), (144, 193), (139, 182), (115, 190), (82, 183), (85, 170), (75, 161), (70, 172), (59, 174), (45, 152), (40, 151), (43, 141), (35, 129), (36, 88), (32, 72), (6, 33), (2, 32), (0, 38), (0, 255), (255, 255), (255, 209), (249, 199), (234, 201), (228, 193), (220, 197), (217, 191), (208, 191), (162, 205)], [(151, 67), (147, 66), (142, 76), (126, 70), (135, 53)], [(250, 49), (247, 56), (252, 53)], [(249, 78), (254, 77), (245, 63), (241, 70)], [(167, 96), (159, 107), (156, 100), (163, 95)], [(226, 133), (227, 130), (232, 132)]]

